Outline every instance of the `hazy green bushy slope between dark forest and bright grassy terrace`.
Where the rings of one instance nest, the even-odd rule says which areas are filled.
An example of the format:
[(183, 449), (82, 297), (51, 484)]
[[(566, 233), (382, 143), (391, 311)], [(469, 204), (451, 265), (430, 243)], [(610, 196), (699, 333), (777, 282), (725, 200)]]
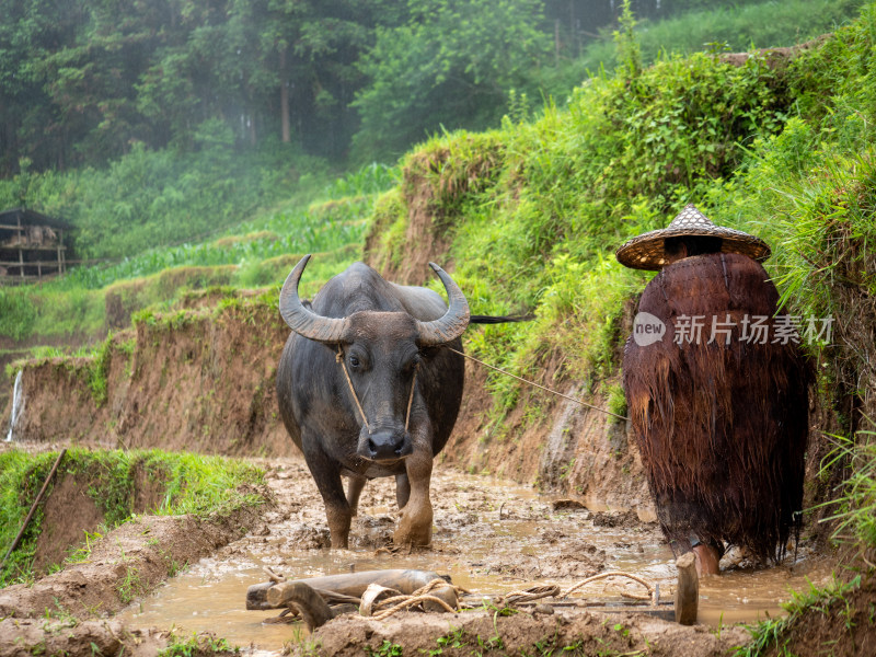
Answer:
[(0, 207), (26, 205), (65, 219), (76, 228), (80, 258), (125, 258), (204, 241), (293, 195), (307, 201), (326, 172), (292, 147), (237, 153), (214, 143), (183, 153), (138, 143), (102, 170), (31, 173), (24, 162), (22, 173), (0, 181)]

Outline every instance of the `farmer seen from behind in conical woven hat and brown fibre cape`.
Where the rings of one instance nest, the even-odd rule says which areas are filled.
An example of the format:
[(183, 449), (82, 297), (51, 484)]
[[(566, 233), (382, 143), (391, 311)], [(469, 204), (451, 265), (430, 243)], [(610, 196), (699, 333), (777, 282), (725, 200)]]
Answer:
[(718, 574), (725, 544), (780, 562), (800, 526), (811, 367), (760, 239), (692, 205), (616, 252), (659, 269), (626, 341), (630, 417), (672, 552)]

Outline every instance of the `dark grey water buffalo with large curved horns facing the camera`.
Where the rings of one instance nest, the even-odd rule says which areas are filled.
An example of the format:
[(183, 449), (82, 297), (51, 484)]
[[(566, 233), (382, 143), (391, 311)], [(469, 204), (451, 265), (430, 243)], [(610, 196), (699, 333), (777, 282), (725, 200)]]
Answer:
[(332, 546), (347, 548), (362, 487), (378, 476), (395, 477), (395, 543), (427, 545), (433, 458), (453, 429), (465, 371), (462, 356), (441, 346), (462, 350), (465, 296), (434, 263), (449, 308), (433, 290), (388, 283), (356, 263), (309, 306), (298, 296), (309, 258), (280, 292), (292, 334), (277, 370), (277, 399), (325, 504)]

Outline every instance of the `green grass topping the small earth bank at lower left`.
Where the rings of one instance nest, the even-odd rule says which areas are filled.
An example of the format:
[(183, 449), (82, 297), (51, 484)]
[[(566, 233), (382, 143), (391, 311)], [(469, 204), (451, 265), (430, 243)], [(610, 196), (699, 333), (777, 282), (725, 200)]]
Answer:
[[(27, 454), (19, 450), (0, 453), (0, 550), (7, 553), (33, 500), (57, 458), (57, 452)], [(65, 475), (90, 482), (87, 494), (104, 515), (105, 534), (134, 512), (135, 473), (164, 485), (161, 503), (150, 512), (163, 516), (228, 514), (242, 505), (255, 505), (262, 497), (242, 485), (264, 483), (257, 468), (233, 459), (160, 450), (130, 451), (68, 449), (54, 484)], [(54, 485), (53, 484), (53, 485)], [(47, 494), (51, 493), (51, 486)], [(27, 581), (42, 528), (42, 506), (37, 507), (19, 548), (0, 573), (0, 586)], [(92, 537), (93, 538), (93, 537)], [(81, 556), (80, 548), (80, 556)], [(77, 558), (77, 553), (71, 557)]]

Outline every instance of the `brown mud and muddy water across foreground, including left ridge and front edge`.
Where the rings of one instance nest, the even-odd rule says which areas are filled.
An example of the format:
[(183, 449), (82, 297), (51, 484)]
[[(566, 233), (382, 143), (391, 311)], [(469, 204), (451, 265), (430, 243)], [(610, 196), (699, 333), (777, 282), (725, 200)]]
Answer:
[[(254, 655), (284, 649), (360, 655), (366, 647), (379, 650), (384, 642), (404, 646), (405, 655), (438, 648), (447, 655), (537, 654), (537, 645), (570, 646), (570, 654), (581, 655), (593, 654), (597, 646), (621, 654), (649, 646), (654, 655), (718, 655), (748, 641), (729, 621), (750, 621), (764, 610), (782, 613), (777, 602), (789, 598), (792, 588), (805, 589), (809, 580), (819, 584), (829, 575), (829, 567), (807, 551), (793, 567), (764, 570), (725, 563), (725, 575), (701, 583), (701, 621), (706, 624), (694, 627), (580, 607), (620, 608), (631, 603), (624, 593), (643, 592), (639, 585), (616, 579), (581, 589), (575, 593), (577, 606), (556, 607), (546, 615), (521, 611), (505, 616), (491, 602), (497, 596), (542, 584), (568, 589), (607, 570), (632, 572), (671, 597), (671, 552), (657, 526), (629, 509), (591, 511), (568, 499), (554, 504), (531, 487), (440, 465), (433, 481), (429, 549), (392, 546), (394, 486), (378, 480), (362, 494), (351, 549), (331, 551), (322, 503), (303, 461), (258, 462), (267, 471), (270, 492), (265, 496), (272, 504), (206, 519), (137, 516), (99, 541), (88, 562), (33, 586), (0, 591), (0, 616), (11, 616), (0, 624), (0, 654), (7, 654), (2, 641), (10, 641), (11, 633), (19, 652), (54, 646), (64, 635), (72, 646), (64, 649), (71, 656), (90, 655), (90, 647), (79, 652), (76, 646), (104, 646), (101, 642), (107, 655), (122, 649), (116, 645), (125, 655), (150, 655), (166, 645), (166, 631), (175, 627), (181, 636), (224, 637)], [(270, 622), (276, 612), (244, 611), (246, 589), (266, 580), (265, 566), (289, 578), (350, 569), (433, 569), (449, 574), (485, 599), (486, 607), (453, 615), (404, 613), (384, 623), (341, 616), (309, 636), (301, 625)], [(35, 620), (42, 616), (54, 620)], [(684, 650), (678, 652), (679, 646)]]

